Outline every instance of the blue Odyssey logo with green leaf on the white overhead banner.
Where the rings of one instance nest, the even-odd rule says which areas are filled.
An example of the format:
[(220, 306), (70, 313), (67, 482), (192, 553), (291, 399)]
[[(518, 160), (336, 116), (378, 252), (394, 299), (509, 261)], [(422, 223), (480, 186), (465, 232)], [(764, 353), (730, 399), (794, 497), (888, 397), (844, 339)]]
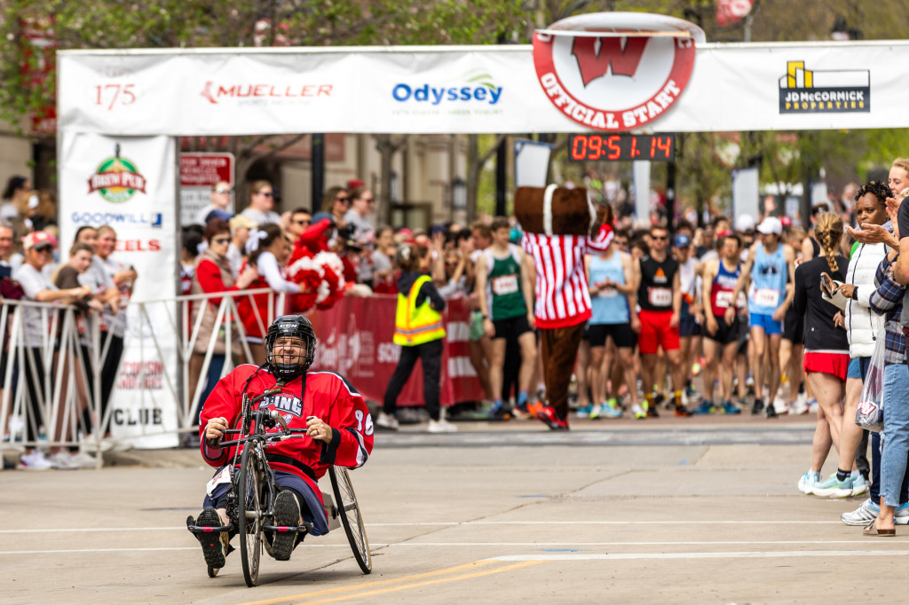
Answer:
[(503, 91), (492, 75), (477, 68), (456, 78), (455, 83), (399, 82), (392, 88), (392, 98), (400, 104), (426, 110), (445, 107), (452, 114), (469, 114), (470, 110), (483, 108), (488, 113), (502, 99)]

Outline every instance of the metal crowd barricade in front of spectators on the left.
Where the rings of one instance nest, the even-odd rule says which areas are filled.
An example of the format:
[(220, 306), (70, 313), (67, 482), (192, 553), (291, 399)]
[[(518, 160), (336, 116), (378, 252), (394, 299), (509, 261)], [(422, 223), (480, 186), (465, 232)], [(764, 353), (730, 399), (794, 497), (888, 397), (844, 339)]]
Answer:
[[(261, 302), (263, 296), (265, 317), (255, 301), (258, 297)], [(214, 306), (212, 299), (220, 301)], [(244, 305), (244, 299), (249, 304)], [(255, 332), (265, 334), (275, 313), (285, 312), (285, 304), (283, 293), (265, 288), (130, 302), (120, 311), (129, 313), (124, 354), (114, 383), (105, 384), (105, 379), (111, 380), (103, 368), (114, 338), (98, 314), (84, 317), (73, 306), (4, 300), (0, 306), (0, 355), (5, 368), (0, 375), (4, 434), (0, 450), (75, 447), (87, 442), (90, 449), (103, 451), (117, 441), (198, 431), (206, 377), (212, 362), (220, 361), (215, 351), (224, 352), (218, 372), (224, 377), (238, 363), (255, 363), (255, 347), (263, 346), (247, 341), (239, 307), (244, 307), (246, 321)], [(210, 330), (207, 337), (205, 327)], [(125, 365), (137, 367), (138, 372), (124, 372)], [(154, 387), (148, 386), (151, 367), (162, 369)], [(136, 373), (135, 380), (125, 373)], [(126, 382), (133, 388), (123, 388)], [(105, 392), (112, 393), (107, 405)], [(145, 412), (151, 402), (156, 409), (175, 415), (175, 422), (154, 429), (138, 423), (138, 430), (128, 435), (105, 439), (126, 399), (137, 399), (138, 409)], [(101, 456), (98, 461), (100, 465)]]

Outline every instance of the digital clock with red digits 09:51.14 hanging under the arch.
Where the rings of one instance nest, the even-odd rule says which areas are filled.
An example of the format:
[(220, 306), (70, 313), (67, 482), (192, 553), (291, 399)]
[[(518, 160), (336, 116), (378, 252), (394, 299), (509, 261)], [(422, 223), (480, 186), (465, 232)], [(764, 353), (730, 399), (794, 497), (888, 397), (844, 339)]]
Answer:
[(672, 162), (674, 134), (572, 134), (568, 159)]

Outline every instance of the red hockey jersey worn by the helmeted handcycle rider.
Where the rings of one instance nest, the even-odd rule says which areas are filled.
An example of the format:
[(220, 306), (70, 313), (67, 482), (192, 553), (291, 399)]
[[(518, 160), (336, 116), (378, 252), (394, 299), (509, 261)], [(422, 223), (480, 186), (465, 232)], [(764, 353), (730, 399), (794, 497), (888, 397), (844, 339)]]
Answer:
[[(213, 447), (205, 439), (205, 425), (209, 419), (226, 418), (232, 429), (238, 428), (243, 413), (243, 393), (248, 392), (250, 397), (255, 397), (275, 386), (277, 378), (274, 374), (250, 364), (238, 366), (218, 381), (205, 400), (199, 419), (199, 437), (205, 462), (215, 468), (222, 467), (235, 454), (235, 447)], [(293, 429), (305, 428), (308, 416), (321, 418), (332, 427), (332, 441), (327, 445), (308, 436), (299, 436), (272, 443), (265, 451), (269, 465), (275, 471), (292, 472), (299, 476), (320, 500), (322, 491), (317, 481), (325, 475), (330, 464), (355, 469), (365, 464), (373, 451), (373, 419), (363, 396), (335, 372), (306, 372), (283, 386), (279, 394), (259, 402), (258, 408), (273, 408), (281, 412), (287, 425)], [(281, 427), (270, 431), (281, 431)], [(228, 435), (224, 441), (233, 438), (233, 435)]]

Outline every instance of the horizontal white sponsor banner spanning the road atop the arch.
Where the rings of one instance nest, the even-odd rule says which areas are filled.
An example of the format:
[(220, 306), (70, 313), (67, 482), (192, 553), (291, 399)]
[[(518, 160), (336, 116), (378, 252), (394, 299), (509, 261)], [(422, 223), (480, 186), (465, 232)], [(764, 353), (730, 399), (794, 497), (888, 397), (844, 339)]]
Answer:
[[(659, 45), (633, 57), (627, 45), (609, 48), (583, 77), (566, 76), (571, 59), (557, 61), (564, 87), (602, 84), (590, 81), (591, 64), (615, 71), (619, 61), (632, 79), (662, 86), (641, 91), (638, 115), (606, 116), (612, 130), (909, 127), (892, 67), (909, 41), (698, 45), (678, 92), (648, 71)], [(544, 89), (530, 45), (61, 51), (58, 70), (60, 129), (121, 135), (569, 133), (585, 130), (574, 103), (591, 92)]]

